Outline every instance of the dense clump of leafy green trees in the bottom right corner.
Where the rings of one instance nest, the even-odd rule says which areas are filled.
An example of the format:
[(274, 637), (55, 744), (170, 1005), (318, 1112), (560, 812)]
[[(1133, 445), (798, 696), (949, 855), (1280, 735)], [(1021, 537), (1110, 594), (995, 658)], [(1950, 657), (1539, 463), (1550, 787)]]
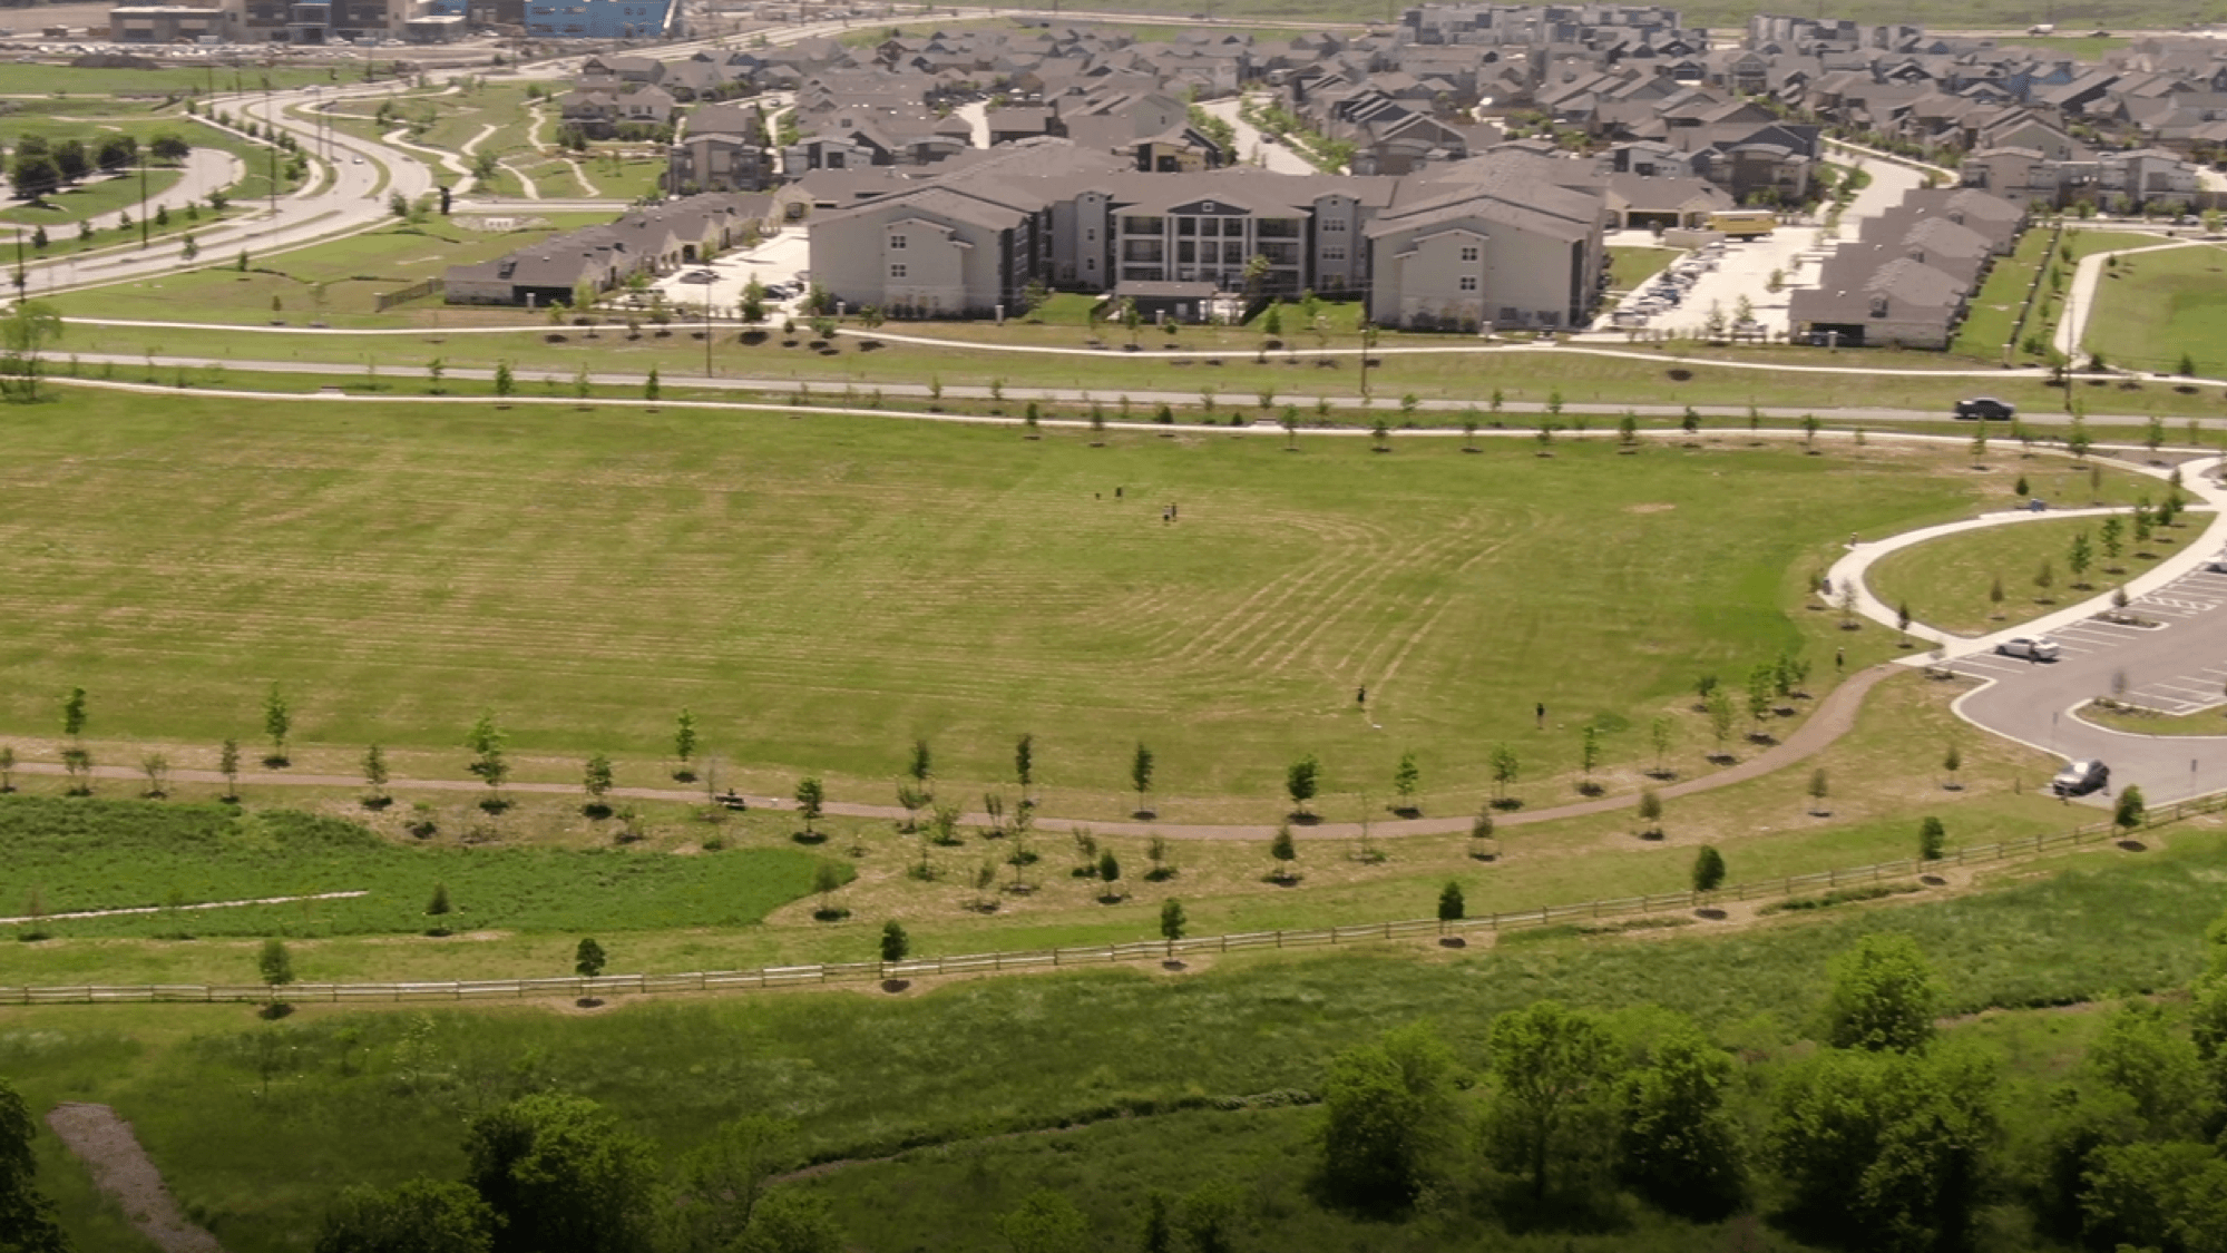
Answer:
[(1811, 1039), (1770, 1066), (1659, 1008), (1539, 1002), (1501, 1015), (1468, 1071), (1403, 1026), (1332, 1059), (1323, 1182), (1379, 1213), (1465, 1197), (1586, 1224), (1628, 1193), (1690, 1220), (1757, 1211), (1819, 1246), (1929, 1253), (2009, 1211), (2067, 1246), (2218, 1253), (2227, 919), (2207, 944), (2187, 1028), (2151, 1002), (2109, 1010), (2018, 1119), (2002, 1059), (1937, 1039), (1940, 979), (1897, 935), (1833, 961)]

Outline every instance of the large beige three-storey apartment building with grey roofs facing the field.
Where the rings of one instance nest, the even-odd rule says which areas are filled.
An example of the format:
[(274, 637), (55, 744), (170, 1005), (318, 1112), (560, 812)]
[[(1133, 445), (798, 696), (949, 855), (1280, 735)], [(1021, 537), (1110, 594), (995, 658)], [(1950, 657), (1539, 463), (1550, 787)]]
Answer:
[(813, 218), (813, 280), (895, 316), (1018, 309), (1031, 283), (1185, 292), (1194, 312), (1214, 292), (1318, 292), (1363, 296), (1379, 325), (1416, 329), (1566, 329), (1599, 294), (1603, 200), (1581, 162), (1477, 158), (1396, 178), (1138, 174), (1091, 169), (1058, 140), (1020, 151), (1040, 156), (853, 189), (862, 203)]

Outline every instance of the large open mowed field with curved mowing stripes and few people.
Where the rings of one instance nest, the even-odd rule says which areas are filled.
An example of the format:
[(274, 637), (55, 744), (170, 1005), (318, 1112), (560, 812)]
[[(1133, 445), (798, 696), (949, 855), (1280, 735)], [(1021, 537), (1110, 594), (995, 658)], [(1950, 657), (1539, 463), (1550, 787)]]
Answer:
[(254, 741), (278, 683), (305, 746), (485, 710), (657, 757), (686, 706), (733, 763), (886, 781), (929, 739), (962, 788), (1033, 732), (1114, 812), (1149, 743), (1180, 821), (1305, 752), (1325, 795), (1410, 748), (1477, 786), (1534, 703), (1644, 737), (1697, 672), (1837, 634), (1788, 616), (1822, 543), (1982, 492), (1926, 450), (1517, 443), (65, 387), (0, 438), (0, 728), (85, 685), (98, 739)]

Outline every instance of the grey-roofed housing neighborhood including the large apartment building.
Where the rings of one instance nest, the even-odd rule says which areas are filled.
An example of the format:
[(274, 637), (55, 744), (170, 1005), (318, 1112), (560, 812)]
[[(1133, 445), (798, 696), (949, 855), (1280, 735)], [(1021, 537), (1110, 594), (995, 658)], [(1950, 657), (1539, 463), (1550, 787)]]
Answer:
[[(1289, 38), (1036, 18), (595, 53), (561, 105), (588, 138), (668, 140), (664, 194), (719, 205), (690, 220), (795, 227), (811, 283), (884, 316), (995, 318), (1056, 289), (1205, 320), (1316, 292), (1383, 327), (1568, 334), (1608, 325), (1610, 240), (1697, 247), (1764, 209), (1817, 238), (1773, 267), (1766, 334), (1944, 347), (2033, 214), (2214, 205), (2223, 87), (2200, 38), (2098, 65), (1915, 24), (1759, 16), (1726, 38), (1661, 7), (1432, 4)], [(1842, 231), (1855, 169), (1891, 160), (1911, 194)], [(626, 234), (510, 272), (670, 269)], [(450, 300), (503, 298), (497, 269), (454, 272)], [(1764, 296), (1757, 274), (1742, 298)]]

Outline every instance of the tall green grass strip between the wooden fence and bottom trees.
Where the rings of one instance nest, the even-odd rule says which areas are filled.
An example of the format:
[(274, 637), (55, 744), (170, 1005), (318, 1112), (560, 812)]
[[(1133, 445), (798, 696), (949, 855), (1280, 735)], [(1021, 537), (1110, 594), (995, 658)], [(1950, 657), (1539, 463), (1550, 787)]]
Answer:
[[(463, 1117), (541, 1088), (606, 1102), (668, 1153), (739, 1113), (793, 1119), (802, 1160), (973, 1142), (951, 1151), (951, 1173), (926, 1173), (893, 1197), (895, 1213), (924, 1215), (904, 1244), (884, 1235), (904, 1226), (897, 1217), (851, 1220), (853, 1235), (875, 1233), (873, 1249), (944, 1240), (929, 1220), (958, 1215), (920, 1195), (938, 1177), (975, 1188), (975, 1217), (1002, 1213), (1036, 1177), (1076, 1180), (1102, 1220), (1127, 1231), (1120, 1215), (1131, 1211), (1114, 1202), (1134, 1206), (1134, 1184), (1169, 1175), (1167, 1162), (1149, 1157), (1185, 1142), (1209, 1164), (1254, 1164), (1256, 1177), (1240, 1182), (1283, 1206), (1276, 1233), (1287, 1246), (1347, 1249), (1354, 1229), (1298, 1186), (1309, 1160), (1303, 1122), (1258, 1111), (1289, 1097), (1249, 1102), (1258, 1113), (1207, 1113), (1245, 1104), (1236, 1097), (1312, 1093), (1330, 1053), (1416, 1017), (1430, 1017), (1474, 1064), (1492, 1017), (1541, 997), (1588, 1008), (1661, 1004), (1695, 1015), (1721, 1042), (1773, 1055), (1811, 1026), (1828, 957), (1873, 930), (1909, 933), (1924, 946), (1946, 977), (1951, 1013), (2162, 990), (2198, 973), (2198, 937), (2220, 910), (2227, 875), (2216, 832), (2180, 835), (2162, 852), (2060, 866), (1986, 895), (1864, 906), (1735, 935), (1688, 928), (1675, 939), (1430, 957), (1263, 955), (1180, 977), (1100, 970), (909, 997), (795, 993), (630, 1004), (588, 1017), (305, 1006), (278, 1024), (258, 1024), (245, 1008), (24, 1008), (0, 1026), (0, 1073), (33, 1108), (62, 1097), (118, 1106), (183, 1202), (234, 1253), (298, 1249), (343, 1184), (454, 1177)], [(265, 1066), (269, 1095), (261, 1093)], [(969, 1175), (978, 1160), (1016, 1160), (982, 1144), (984, 1135), (1187, 1106), (1203, 1113), (1165, 1133), (1136, 1124), (1134, 1135), (1105, 1133), (1111, 1144), (1071, 1139), (1071, 1153), (1053, 1151), (1065, 1155), (1027, 1171)], [(837, 1171), (815, 1186), (866, 1204), (886, 1177), (853, 1184)], [(1423, 1235), (1385, 1231), (1387, 1240)], [(1105, 1249), (1116, 1246), (1127, 1242), (1107, 1237)]]

